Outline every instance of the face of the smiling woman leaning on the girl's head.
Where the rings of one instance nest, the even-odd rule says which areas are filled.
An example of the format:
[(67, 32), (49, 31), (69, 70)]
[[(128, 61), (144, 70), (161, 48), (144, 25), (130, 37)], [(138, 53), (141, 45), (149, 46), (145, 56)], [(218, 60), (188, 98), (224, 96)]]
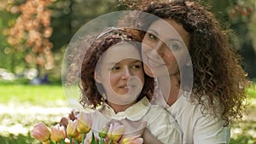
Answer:
[(143, 38), (145, 72), (150, 77), (177, 74), (179, 67), (188, 62), (187, 46), (189, 33), (182, 25), (175, 20), (154, 21)]

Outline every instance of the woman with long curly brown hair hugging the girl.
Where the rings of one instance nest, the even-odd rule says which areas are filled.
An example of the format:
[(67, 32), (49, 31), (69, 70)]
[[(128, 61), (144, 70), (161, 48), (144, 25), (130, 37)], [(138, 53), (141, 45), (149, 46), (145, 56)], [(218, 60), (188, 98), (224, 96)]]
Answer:
[[(227, 33), (212, 13), (192, 1), (141, 4), (139, 9), (162, 19), (140, 17), (140, 26), (147, 30), (144, 71), (157, 79), (156, 103), (161, 95), (166, 100), (166, 109), (182, 130), (183, 144), (229, 143), (230, 120), (241, 118), (245, 108), (247, 78)], [(167, 75), (161, 73), (164, 67)], [(166, 79), (168, 93), (163, 92), (168, 91)]]

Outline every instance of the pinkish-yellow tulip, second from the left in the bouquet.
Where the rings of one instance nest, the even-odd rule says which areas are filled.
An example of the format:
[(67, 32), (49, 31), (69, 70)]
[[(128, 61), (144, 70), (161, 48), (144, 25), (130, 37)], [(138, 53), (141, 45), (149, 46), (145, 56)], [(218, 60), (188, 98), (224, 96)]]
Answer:
[(56, 124), (55, 126), (50, 127), (51, 137), (50, 139), (55, 142), (60, 142), (64, 140), (66, 137), (64, 126), (60, 126), (60, 124)]

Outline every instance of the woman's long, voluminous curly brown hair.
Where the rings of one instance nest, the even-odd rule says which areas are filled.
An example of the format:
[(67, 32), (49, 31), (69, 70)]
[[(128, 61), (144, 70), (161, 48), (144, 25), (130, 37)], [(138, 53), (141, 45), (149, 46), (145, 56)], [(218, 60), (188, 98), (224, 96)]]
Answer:
[[(221, 118), (227, 123), (232, 118), (241, 118), (247, 101), (247, 73), (230, 44), (228, 32), (215, 16), (192, 1), (141, 4), (140, 10), (164, 20), (175, 20), (189, 32), (188, 49), (194, 72), (191, 100), (197, 100), (202, 109), (215, 113), (221, 110)], [(149, 26), (148, 20), (144, 23)]]

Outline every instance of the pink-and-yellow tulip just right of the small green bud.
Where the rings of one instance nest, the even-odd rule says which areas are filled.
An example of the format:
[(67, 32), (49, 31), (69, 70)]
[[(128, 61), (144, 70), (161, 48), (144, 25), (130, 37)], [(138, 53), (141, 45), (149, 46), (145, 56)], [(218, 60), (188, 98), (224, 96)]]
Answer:
[(108, 129), (107, 137), (111, 141), (119, 141), (123, 135), (125, 126), (119, 123), (112, 123)]

